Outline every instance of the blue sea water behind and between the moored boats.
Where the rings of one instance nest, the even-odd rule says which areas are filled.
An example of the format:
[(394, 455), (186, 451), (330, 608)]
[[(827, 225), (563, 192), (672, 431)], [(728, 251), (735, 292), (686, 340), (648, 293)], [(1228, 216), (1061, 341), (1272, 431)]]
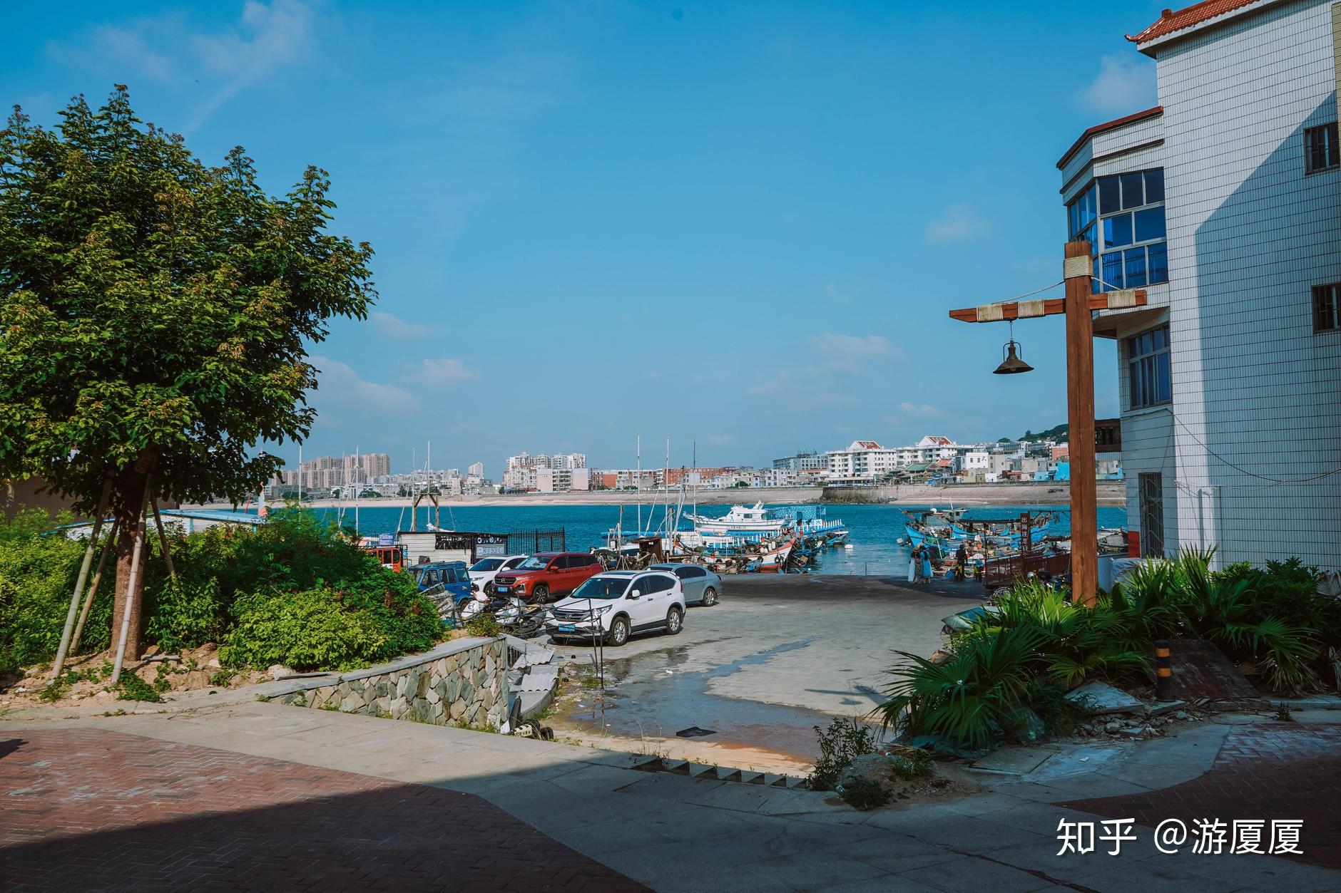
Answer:
[[(916, 511), (921, 507), (913, 505), (825, 505), (827, 518), (842, 519), (849, 532), (848, 542), (850, 550), (829, 550), (819, 555), (814, 573), (818, 574), (900, 574), (908, 569), (908, 546), (898, 544), (904, 536), (904, 511)], [(941, 508), (945, 508), (941, 505)], [(700, 505), (699, 514), (708, 516), (725, 515), (727, 505)], [(354, 523), (353, 507), (314, 508), (310, 510), (325, 515), (341, 515), (342, 523)], [(648, 507), (644, 507), (644, 512)], [(983, 505), (970, 508), (968, 519), (1004, 519), (1018, 518), (1025, 511), (1054, 512), (1053, 532), (1070, 532), (1070, 508), (1065, 505)], [(625, 507), (624, 528), (634, 527), (634, 508)], [(644, 515), (646, 518), (646, 515)], [(358, 511), (358, 528), (361, 534), (375, 536), (377, 534), (408, 530), (410, 510), (390, 508), (385, 505), (362, 505)], [(432, 520), (420, 508), (420, 530), (425, 522)], [(586, 551), (593, 546), (605, 542), (606, 530), (620, 520), (618, 505), (469, 505), (469, 507), (443, 507), (441, 523), (444, 530), (468, 530), (481, 532), (506, 534), (516, 530), (557, 530), (562, 527), (567, 534), (570, 550)], [(1098, 510), (1100, 527), (1125, 527), (1126, 510), (1122, 507), (1101, 507)], [(648, 526), (648, 524), (644, 524)], [(685, 522), (684, 528), (691, 524)]]

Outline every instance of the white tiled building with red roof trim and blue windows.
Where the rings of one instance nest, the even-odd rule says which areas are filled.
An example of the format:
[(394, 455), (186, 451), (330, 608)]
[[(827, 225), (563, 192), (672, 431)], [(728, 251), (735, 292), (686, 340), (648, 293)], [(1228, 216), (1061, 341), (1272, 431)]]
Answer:
[(1160, 105), (1058, 162), (1102, 287), (1149, 295), (1094, 323), (1117, 343), (1128, 523), (1144, 554), (1337, 567), (1341, 9), (1214, 0), (1132, 40)]

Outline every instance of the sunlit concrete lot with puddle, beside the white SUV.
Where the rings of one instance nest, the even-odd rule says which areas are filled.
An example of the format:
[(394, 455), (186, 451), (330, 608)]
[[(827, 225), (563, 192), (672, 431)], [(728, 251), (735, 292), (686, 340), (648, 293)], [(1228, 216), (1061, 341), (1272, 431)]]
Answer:
[[(940, 619), (980, 595), (974, 585), (931, 590), (878, 577), (727, 577), (721, 601), (691, 606), (679, 636), (605, 649), (605, 693), (579, 692), (547, 723), (598, 747), (803, 771), (817, 755), (814, 725), (869, 713), (894, 652), (929, 656)], [(594, 661), (590, 646), (548, 645)], [(689, 727), (715, 735), (675, 737)]]

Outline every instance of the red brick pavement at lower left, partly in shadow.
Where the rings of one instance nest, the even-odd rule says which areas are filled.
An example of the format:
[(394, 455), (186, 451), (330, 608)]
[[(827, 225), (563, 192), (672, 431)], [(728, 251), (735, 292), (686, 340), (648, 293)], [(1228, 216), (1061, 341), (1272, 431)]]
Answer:
[(0, 886), (646, 889), (471, 794), (98, 729), (0, 735)]

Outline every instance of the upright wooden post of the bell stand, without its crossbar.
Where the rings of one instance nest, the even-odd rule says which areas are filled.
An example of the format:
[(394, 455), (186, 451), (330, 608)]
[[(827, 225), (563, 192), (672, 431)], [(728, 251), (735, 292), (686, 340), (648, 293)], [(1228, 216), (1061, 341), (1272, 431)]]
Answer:
[(1093, 267), (1088, 241), (1066, 243), (1066, 456), (1071, 468), (1071, 598), (1098, 593), (1098, 504), (1094, 485)]

